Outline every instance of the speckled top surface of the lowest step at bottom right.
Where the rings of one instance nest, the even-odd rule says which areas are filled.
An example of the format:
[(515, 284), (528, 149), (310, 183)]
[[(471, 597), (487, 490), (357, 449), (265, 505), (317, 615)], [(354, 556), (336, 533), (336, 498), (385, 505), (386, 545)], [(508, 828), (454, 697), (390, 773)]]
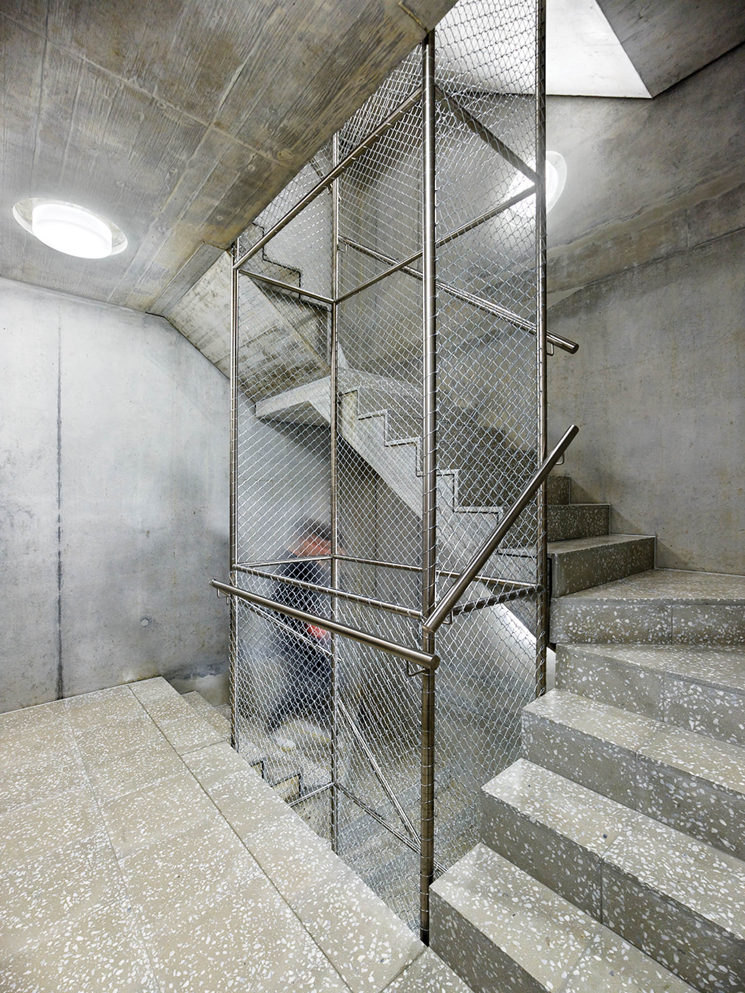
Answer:
[[(460, 859), (437, 880), (432, 892), (435, 950), (440, 947), (436, 907), (442, 900), (517, 962), (531, 977), (531, 989), (537, 983), (556, 993), (593, 993), (601, 988), (608, 993), (691, 990), (486, 845), (477, 845)], [(469, 964), (479, 969), (478, 956), (471, 957)]]

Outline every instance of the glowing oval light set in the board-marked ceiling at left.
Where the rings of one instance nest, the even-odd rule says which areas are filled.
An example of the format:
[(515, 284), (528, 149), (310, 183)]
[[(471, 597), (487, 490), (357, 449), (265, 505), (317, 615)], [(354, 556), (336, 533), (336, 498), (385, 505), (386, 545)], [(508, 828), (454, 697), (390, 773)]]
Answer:
[(63, 200), (20, 200), (13, 216), (44, 244), (77, 258), (107, 258), (127, 247), (124, 232), (110, 220)]

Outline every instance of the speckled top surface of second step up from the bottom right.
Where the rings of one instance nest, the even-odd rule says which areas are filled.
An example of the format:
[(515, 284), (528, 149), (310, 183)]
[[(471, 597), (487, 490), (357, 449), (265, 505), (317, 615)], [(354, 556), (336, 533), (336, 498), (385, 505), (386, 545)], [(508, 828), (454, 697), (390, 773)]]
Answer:
[(593, 852), (603, 864), (745, 940), (745, 863), (734, 855), (524, 759), (483, 789)]

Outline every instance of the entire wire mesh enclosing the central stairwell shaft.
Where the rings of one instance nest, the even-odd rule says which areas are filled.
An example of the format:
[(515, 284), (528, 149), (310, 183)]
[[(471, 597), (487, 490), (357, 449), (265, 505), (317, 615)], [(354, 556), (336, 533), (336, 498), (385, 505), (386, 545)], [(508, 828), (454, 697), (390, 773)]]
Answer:
[[(534, 2), (460, 0), (436, 32), (438, 597), (541, 458), (537, 24)], [(421, 90), (417, 50), (336, 152), (322, 149), (241, 235), (239, 256), (265, 243), (236, 277), (232, 581), (411, 647), (422, 642), (422, 101), (396, 111)], [(347, 157), (336, 185), (281, 226)], [(476, 842), (479, 789), (516, 757), (536, 692), (540, 519), (536, 500), (437, 635), (440, 868)], [(420, 677), (321, 624), (237, 599), (232, 612), (237, 747), (414, 927)]]

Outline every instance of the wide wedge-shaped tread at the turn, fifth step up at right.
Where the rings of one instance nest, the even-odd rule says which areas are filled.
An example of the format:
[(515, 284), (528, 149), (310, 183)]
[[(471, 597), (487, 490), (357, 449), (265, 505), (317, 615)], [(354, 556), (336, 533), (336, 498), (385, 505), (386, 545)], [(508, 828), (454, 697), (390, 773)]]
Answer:
[(647, 569), (624, 579), (567, 594), (560, 599), (570, 602), (644, 600), (664, 603), (745, 604), (745, 576), (685, 569)]

